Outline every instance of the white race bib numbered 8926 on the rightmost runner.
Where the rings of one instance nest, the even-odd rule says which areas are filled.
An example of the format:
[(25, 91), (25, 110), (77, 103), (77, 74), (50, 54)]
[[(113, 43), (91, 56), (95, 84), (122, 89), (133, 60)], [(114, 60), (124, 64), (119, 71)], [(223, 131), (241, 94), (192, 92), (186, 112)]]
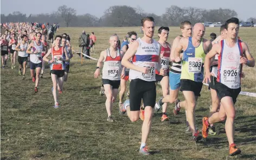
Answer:
[(225, 66), (221, 70), (221, 78), (224, 82), (238, 82), (239, 68)]

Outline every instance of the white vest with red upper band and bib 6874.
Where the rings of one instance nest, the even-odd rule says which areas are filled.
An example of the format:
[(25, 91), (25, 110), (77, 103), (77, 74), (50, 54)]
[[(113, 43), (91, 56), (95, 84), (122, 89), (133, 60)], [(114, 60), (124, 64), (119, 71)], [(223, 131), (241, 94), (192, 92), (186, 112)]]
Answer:
[(108, 80), (120, 80), (121, 79), (121, 57), (120, 50), (117, 50), (116, 57), (111, 57), (110, 49), (107, 48), (107, 56), (104, 61), (102, 78)]

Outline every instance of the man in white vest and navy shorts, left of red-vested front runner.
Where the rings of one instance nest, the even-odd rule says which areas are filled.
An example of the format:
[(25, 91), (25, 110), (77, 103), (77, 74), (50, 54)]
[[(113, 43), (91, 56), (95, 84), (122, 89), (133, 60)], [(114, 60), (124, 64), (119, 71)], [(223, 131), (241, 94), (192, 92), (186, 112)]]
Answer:
[[(31, 42), (28, 46), (28, 49), (26, 53), (31, 54), (30, 55), (30, 74), (32, 81), (35, 82), (35, 93), (38, 92), (38, 84), (39, 84), (39, 76), (41, 73), (41, 68), (42, 68), (42, 52), (44, 51), (43, 49), (43, 44), (40, 41), (42, 37), (42, 34), (36, 33), (36, 40)], [(36, 74), (35, 74), (35, 69), (36, 69)]]

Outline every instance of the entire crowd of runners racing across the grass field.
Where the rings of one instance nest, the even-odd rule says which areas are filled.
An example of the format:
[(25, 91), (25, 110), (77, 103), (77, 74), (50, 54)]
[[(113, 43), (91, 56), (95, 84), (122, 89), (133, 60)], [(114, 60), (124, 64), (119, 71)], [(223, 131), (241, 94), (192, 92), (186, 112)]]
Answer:
[[(203, 38), (206, 28), (202, 23), (193, 26), (189, 21), (183, 21), (180, 25), (181, 34), (172, 44), (167, 42), (168, 27), (158, 29), (159, 39), (156, 41), (152, 39), (155, 33), (153, 17), (145, 17), (141, 22), (143, 37), (130, 31), (127, 33), (128, 41), (120, 44), (118, 35), (114, 34), (109, 39), (110, 47), (100, 53), (94, 78), (100, 77), (102, 69), (100, 94), (106, 95), (107, 121), (114, 121), (112, 107), (119, 91), (119, 113), (126, 114), (131, 121), (143, 120), (139, 153), (149, 155), (146, 141), (151, 130), (152, 115), (162, 110), (161, 120), (166, 121), (169, 119), (166, 113), (168, 104), (174, 104), (175, 115), (180, 113), (181, 108), (185, 111), (185, 131), (192, 134), (195, 142), (207, 138), (208, 134), (216, 135), (214, 124), (226, 120), (229, 155), (241, 153), (234, 143), (234, 104), (241, 91), (241, 78), (245, 76), (242, 66), (254, 67), (255, 61), (247, 44), (238, 36), (238, 18), (227, 20), (220, 27), (220, 35), (216, 37), (216, 34), (211, 34), (215, 37), (210, 40)], [(11, 68), (15, 68), (15, 55), (18, 52), (18, 74), (25, 79), (29, 61), (37, 93), (44, 63), (49, 63), (54, 107), (57, 108), (58, 93), (62, 93), (69, 60), (73, 57), (71, 43), (67, 40), (67, 34), (62, 34), (55, 36), (54, 42), (49, 45), (44, 30), (33, 27), (31, 24), (23, 23), (22, 27), (18, 24), (16, 28), (20, 28), (21, 36), (17, 36), (13, 30), (7, 30), (1, 36), (2, 66), (5, 68), (7, 65), (10, 53)], [(130, 88), (128, 98), (124, 100), (127, 82)], [(163, 97), (156, 100), (158, 82)], [(200, 133), (196, 126), (195, 107), (201, 96), (203, 82), (209, 84), (212, 106), (209, 116), (202, 119)], [(179, 91), (183, 93), (184, 101), (178, 98)]]

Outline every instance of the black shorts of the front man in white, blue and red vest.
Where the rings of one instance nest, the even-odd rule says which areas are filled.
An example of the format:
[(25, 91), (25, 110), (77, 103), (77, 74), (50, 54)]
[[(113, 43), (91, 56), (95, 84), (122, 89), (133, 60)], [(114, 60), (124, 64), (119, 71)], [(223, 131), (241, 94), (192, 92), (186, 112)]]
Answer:
[(144, 81), (141, 79), (133, 79), (130, 82), (130, 110), (139, 111), (141, 101), (144, 107), (151, 106), (156, 103), (156, 85), (155, 81)]

